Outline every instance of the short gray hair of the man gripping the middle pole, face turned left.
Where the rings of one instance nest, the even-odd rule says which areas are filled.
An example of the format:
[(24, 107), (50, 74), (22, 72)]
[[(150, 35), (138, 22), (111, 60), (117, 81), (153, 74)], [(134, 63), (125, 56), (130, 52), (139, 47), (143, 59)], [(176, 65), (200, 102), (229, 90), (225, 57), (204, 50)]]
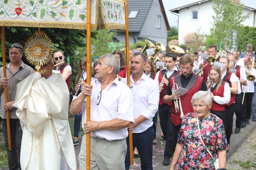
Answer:
[(107, 66), (113, 66), (114, 67), (114, 74), (117, 75), (119, 69), (120, 69), (120, 60), (117, 56), (113, 54), (103, 54), (100, 58), (105, 58), (104, 63)]

